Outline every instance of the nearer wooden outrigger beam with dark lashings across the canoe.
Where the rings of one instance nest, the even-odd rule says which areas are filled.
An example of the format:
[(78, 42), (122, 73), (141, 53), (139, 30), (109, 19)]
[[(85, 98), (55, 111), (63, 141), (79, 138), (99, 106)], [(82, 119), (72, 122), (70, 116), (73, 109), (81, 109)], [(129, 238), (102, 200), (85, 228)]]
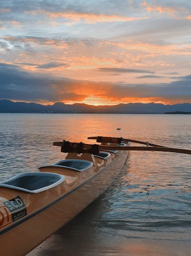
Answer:
[(89, 154), (99, 154), (99, 150), (119, 150), (119, 151), (161, 151), (161, 152), (174, 152), (180, 154), (191, 155), (191, 150), (175, 149), (167, 147), (119, 147), (119, 146), (102, 146), (102, 145), (91, 145), (83, 143), (70, 143), (70, 142), (54, 142), (53, 146), (61, 147), (61, 152), (69, 153), (76, 152), (89, 153)]

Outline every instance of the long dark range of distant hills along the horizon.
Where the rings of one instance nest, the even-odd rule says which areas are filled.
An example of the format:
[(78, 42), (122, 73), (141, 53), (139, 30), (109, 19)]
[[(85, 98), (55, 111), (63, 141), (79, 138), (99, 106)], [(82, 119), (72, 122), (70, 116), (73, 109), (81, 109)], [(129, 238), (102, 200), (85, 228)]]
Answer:
[(127, 103), (112, 106), (93, 106), (83, 103), (64, 104), (56, 102), (53, 105), (13, 102), (0, 100), (0, 113), (127, 113), (151, 114), (166, 112), (191, 112), (191, 103), (164, 105), (160, 103)]

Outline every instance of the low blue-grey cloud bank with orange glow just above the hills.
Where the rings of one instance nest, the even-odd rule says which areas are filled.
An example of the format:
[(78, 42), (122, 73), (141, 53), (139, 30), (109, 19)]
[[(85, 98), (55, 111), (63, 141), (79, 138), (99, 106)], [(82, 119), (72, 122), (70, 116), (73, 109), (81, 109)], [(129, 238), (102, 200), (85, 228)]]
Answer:
[[(11, 76), (10, 76), (11, 73)], [(191, 75), (169, 83), (109, 83), (57, 78), (21, 70), (18, 66), (0, 63), (0, 98), (56, 102), (81, 101), (88, 96), (105, 100), (191, 102)]]

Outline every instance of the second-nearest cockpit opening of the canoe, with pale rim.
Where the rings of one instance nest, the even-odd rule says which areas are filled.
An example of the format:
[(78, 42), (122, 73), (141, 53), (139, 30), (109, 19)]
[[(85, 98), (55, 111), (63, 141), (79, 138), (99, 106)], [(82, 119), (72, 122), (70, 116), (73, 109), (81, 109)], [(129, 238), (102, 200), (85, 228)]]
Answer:
[(60, 160), (53, 165), (40, 166), (39, 169), (42, 167), (59, 167), (59, 168), (61, 167), (61, 168), (67, 168), (67, 169), (72, 169), (78, 172), (82, 172), (87, 170), (92, 165), (93, 163), (87, 160), (65, 159), (65, 160)]

